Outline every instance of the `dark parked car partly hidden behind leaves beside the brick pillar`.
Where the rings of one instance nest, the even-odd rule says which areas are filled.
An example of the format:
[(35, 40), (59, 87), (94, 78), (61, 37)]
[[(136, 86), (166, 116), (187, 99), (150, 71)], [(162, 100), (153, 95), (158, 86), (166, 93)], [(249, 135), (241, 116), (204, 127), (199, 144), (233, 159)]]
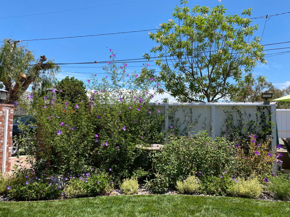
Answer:
[(36, 129), (36, 120), (32, 116), (28, 115), (14, 115), (13, 116), (13, 130), (12, 130), (12, 154), (11, 156), (15, 156), (19, 149), (19, 143), (16, 142), (16, 139), (21, 130), (18, 128), (19, 124), (25, 124), (30, 126), (31, 130)]

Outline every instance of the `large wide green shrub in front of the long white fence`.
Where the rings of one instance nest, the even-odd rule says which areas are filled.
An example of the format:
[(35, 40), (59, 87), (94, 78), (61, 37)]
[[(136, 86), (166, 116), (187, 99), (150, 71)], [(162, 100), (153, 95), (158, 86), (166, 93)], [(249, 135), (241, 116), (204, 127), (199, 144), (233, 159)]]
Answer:
[(189, 174), (200, 178), (219, 176), (225, 170), (231, 173), (236, 163), (235, 148), (234, 143), (225, 138), (213, 141), (207, 132), (195, 137), (171, 135), (161, 151), (150, 155), (155, 177), (147, 181), (146, 186), (162, 192)]

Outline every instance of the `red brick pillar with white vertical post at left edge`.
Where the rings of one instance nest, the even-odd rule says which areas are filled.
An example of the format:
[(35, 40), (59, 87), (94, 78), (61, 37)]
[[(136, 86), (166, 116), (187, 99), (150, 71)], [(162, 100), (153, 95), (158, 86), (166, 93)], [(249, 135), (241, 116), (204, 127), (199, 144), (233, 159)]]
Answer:
[[(5, 122), (6, 113), (8, 114), (7, 122)], [(13, 114), (14, 105), (0, 104), (0, 170), (4, 173), (10, 171), (11, 167)], [(6, 123), (7, 127), (4, 127)], [(4, 137), (5, 129), (7, 129), (7, 138)], [(6, 144), (4, 144), (5, 140)], [(4, 149), (4, 146), (6, 146), (6, 149)], [(3, 156), (5, 153), (6, 156)], [(2, 170), (3, 163), (5, 164), (5, 171)]]

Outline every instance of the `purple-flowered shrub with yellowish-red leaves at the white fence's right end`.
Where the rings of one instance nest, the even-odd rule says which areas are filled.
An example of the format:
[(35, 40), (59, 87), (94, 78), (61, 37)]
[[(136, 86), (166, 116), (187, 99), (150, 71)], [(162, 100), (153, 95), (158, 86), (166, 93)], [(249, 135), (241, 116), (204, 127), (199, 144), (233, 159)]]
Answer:
[(255, 135), (249, 135), (249, 138), (246, 150), (240, 146), (236, 148), (237, 173), (245, 177), (258, 176), (262, 182), (265, 176), (272, 172), (272, 164), (279, 156), (275, 149), (269, 150), (269, 142), (259, 144)]

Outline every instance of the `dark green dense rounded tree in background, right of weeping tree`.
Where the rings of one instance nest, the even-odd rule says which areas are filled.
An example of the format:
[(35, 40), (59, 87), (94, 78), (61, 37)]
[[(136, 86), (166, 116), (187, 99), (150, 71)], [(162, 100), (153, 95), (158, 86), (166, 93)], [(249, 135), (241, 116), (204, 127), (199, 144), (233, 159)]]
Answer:
[(74, 77), (65, 77), (56, 84), (57, 90), (62, 90), (59, 92), (58, 97), (63, 100), (69, 100), (72, 103), (79, 103), (81, 100), (88, 101), (86, 85), (83, 81), (75, 79)]

